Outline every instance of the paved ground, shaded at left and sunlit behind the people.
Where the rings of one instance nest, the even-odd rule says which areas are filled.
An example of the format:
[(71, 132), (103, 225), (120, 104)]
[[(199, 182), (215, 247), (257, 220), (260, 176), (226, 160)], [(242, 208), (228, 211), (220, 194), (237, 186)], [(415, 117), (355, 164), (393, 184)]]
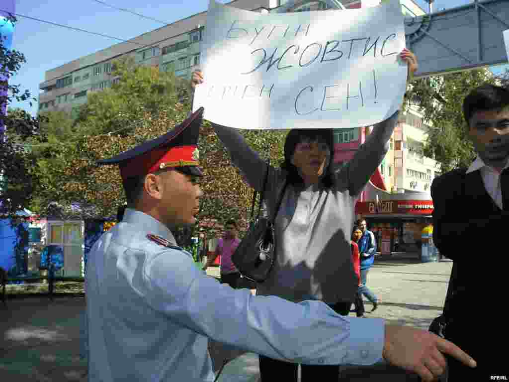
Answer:
[[(443, 306), (451, 265), (449, 261), (420, 264), (408, 258), (377, 261), (368, 275), (368, 285), (382, 304), (366, 316), (428, 328)], [(79, 360), (79, 314), (82, 309), (82, 297), (60, 297), (53, 303), (45, 298), (11, 299), (7, 308), (0, 304), (2, 380), (86, 380), (86, 364)], [(369, 303), (366, 303), (366, 310), (371, 310)], [(215, 370), (224, 360), (236, 358), (224, 367), (218, 382), (258, 380), (258, 361), (252, 353), (218, 343), (211, 343), (210, 350)], [(414, 375), (385, 364), (343, 367), (340, 379), (356, 382), (416, 380)]]

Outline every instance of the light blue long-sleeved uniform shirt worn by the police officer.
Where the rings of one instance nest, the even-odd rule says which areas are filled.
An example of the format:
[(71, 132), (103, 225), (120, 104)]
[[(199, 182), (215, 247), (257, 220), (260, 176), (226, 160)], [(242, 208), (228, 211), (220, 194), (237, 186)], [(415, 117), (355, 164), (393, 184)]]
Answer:
[(371, 365), (382, 319), (336, 314), (319, 301), (253, 296), (206, 276), (153, 217), (127, 209), (87, 263), (89, 381), (213, 381), (208, 338), (282, 361)]

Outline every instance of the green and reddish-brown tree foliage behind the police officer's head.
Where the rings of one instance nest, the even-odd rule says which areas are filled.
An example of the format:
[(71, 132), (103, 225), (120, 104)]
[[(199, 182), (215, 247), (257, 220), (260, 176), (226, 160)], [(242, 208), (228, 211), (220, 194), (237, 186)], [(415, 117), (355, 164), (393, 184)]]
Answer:
[[(115, 64), (120, 81), (102, 92), (92, 93), (81, 106), (78, 118), (48, 113), (43, 125), (47, 144), (38, 146), (39, 187), (33, 209), (64, 219), (97, 219), (115, 216), (125, 203), (118, 167), (96, 165), (97, 160), (129, 150), (154, 139), (181, 123), (189, 112), (189, 84), (173, 73), (153, 67)], [(247, 142), (271, 164), (282, 159), (284, 131), (242, 131)], [(208, 122), (202, 126), (200, 163), (204, 169), (204, 197), (199, 214), (200, 229), (210, 231), (214, 222), (235, 219), (246, 227), (252, 190), (232, 166)], [(76, 208), (79, 206), (79, 208)], [(183, 230), (182, 237), (192, 231)], [(186, 241), (185, 239), (179, 242)]]

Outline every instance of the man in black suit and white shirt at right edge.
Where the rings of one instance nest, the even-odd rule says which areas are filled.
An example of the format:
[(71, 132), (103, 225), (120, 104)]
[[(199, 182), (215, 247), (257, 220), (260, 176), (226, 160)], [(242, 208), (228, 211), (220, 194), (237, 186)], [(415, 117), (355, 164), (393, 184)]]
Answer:
[(433, 239), (458, 267), (445, 337), (477, 361), (472, 370), (449, 360), (449, 382), (509, 379), (501, 350), (509, 336), (496, 305), (507, 301), (509, 90), (480, 86), (465, 98), (463, 113), (477, 158), (467, 170), (448, 172), (431, 186)]

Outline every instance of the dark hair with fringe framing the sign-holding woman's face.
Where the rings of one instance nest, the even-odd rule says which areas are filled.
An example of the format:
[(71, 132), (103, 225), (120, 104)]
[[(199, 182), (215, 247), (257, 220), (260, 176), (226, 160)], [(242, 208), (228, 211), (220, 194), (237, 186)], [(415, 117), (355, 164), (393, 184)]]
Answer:
[(288, 182), (292, 185), (302, 184), (304, 180), (300, 176), (297, 167), (292, 165), (292, 156), (295, 152), (295, 147), (301, 142), (302, 138), (308, 138), (311, 141), (316, 141), (319, 137), (323, 138), (329, 146), (330, 161), (326, 169), (324, 169), (325, 176), (322, 181), (326, 187), (332, 187), (334, 184), (333, 172), (334, 167), (332, 162), (334, 160), (334, 133), (332, 129), (291, 129), (285, 140), (285, 160), (281, 164), (281, 169), (288, 171)]

